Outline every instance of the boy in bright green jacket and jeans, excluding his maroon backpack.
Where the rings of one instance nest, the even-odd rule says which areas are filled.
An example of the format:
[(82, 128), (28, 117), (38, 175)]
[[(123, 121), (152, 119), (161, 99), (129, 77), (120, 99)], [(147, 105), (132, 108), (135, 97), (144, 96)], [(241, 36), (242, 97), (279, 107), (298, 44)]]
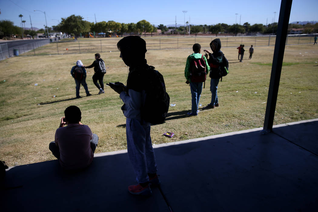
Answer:
[[(191, 106), (191, 112), (187, 113), (187, 115), (190, 116), (196, 116), (198, 114), (198, 106), (199, 106), (199, 101), (200, 101), (200, 96), (202, 92), (202, 84), (203, 82), (191, 82), (191, 72), (192, 72), (192, 67), (191, 67), (191, 62), (194, 58), (201, 58), (202, 54), (201, 52), (201, 45), (200, 44), (194, 44), (192, 47), (192, 50), (194, 53), (188, 56), (187, 62), (185, 64), (185, 69), (184, 69), (184, 76), (185, 79), (187, 79), (186, 83), (190, 83), (190, 91), (191, 91), (191, 96), (192, 96), (192, 106)], [(202, 57), (205, 62), (205, 71), (206, 74), (210, 71), (210, 66), (208, 64), (208, 61), (206, 60), (205, 56)]]

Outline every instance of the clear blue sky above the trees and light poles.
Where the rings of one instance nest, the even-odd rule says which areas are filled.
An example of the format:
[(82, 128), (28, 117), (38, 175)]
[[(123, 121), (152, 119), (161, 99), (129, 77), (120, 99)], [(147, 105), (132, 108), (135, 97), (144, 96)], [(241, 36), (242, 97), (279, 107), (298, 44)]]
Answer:
[[(57, 25), (62, 17), (80, 15), (89, 22), (113, 20), (120, 23), (137, 23), (145, 19), (156, 26), (159, 24), (170, 25), (184, 24), (252, 24), (272, 23), (274, 16), (278, 22), (280, 0), (220, 0), (220, 1), (180, 1), (180, 0), (137, 0), (137, 1), (45, 1), (45, 0), (1, 0), (0, 20), (10, 20), (14, 25), (20, 26), (23, 15), (25, 27), (32, 26), (44, 28), (44, 13), (47, 25)], [(187, 13), (183, 13), (185, 10)], [(294, 21), (318, 21), (318, 0), (293, 0), (289, 23)], [(274, 12), (277, 12), (274, 15)], [(238, 15), (235, 15), (238, 13)], [(95, 15), (94, 15), (95, 14)]]

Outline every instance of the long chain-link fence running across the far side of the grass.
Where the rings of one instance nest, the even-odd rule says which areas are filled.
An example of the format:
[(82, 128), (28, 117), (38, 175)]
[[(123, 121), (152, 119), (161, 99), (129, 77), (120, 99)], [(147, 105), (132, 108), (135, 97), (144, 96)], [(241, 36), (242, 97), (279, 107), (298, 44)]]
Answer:
[[(300, 34), (288, 35), (286, 45), (292, 44), (312, 44), (314, 37), (317, 34)], [(201, 44), (202, 48), (210, 48), (211, 40), (219, 38), (222, 47), (237, 47), (244, 44), (246, 47), (253, 46), (273, 46), (275, 45), (276, 36), (198, 36), (198, 37), (142, 37), (147, 42), (148, 50), (161, 50), (161, 49), (182, 49), (190, 48), (195, 43)], [(31, 44), (14, 47), (6, 50), (5, 46), (1, 45), (1, 57), (6, 58), (14, 55), (14, 50), (18, 50), (22, 56), (40, 56), (40, 55), (53, 55), (53, 54), (77, 54), (77, 53), (96, 53), (96, 52), (110, 52), (118, 51), (117, 42), (121, 38), (79, 38), (78, 40), (62, 39), (58, 42), (51, 42), (50, 39), (41, 40)], [(3, 56), (4, 55), (4, 56)]]

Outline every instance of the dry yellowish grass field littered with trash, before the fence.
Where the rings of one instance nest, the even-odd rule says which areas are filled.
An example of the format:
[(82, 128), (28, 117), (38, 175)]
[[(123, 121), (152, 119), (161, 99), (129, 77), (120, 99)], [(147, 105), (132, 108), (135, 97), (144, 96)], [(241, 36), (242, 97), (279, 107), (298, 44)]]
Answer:
[[(98, 134), (100, 140), (96, 153), (126, 149), (122, 102), (119, 95), (106, 86), (106, 82), (125, 83), (128, 76), (128, 68), (119, 58), (115, 46), (119, 39), (113, 39), (109, 44), (111, 52), (101, 52), (101, 58), (107, 64), (105, 94), (98, 95), (92, 81), (93, 69), (87, 69), (86, 82), (93, 95), (85, 97), (81, 88), (81, 99), (74, 99), (75, 82), (70, 75), (71, 68), (79, 59), (84, 65), (91, 65), (94, 53), (100, 52), (100, 46), (94, 47), (92, 43), (92, 53), (31, 56), (32, 52), (28, 52), (0, 61), (0, 160), (9, 166), (53, 160), (48, 145), (54, 140), (65, 108), (70, 105), (79, 106), (82, 123)], [(222, 45), (226, 46), (224, 39), (221, 39)], [(164, 45), (172, 45), (164, 41), (162, 38), (161, 49), (165, 48)], [(180, 45), (183, 41), (178, 40)], [(202, 48), (208, 48), (210, 41), (211, 38), (196, 38)], [(151, 38), (146, 42), (148, 49), (157, 45)], [(220, 106), (202, 110), (196, 117), (187, 117), (186, 113), (191, 109), (191, 94), (190, 87), (185, 84), (184, 66), (187, 56), (192, 53), (193, 43), (186, 42), (188, 46), (182, 49), (149, 50), (146, 53), (148, 64), (155, 66), (164, 76), (170, 103), (176, 104), (169, 108), (165, 123), (152, 126), (153, 144), (262, 127), (274, 46), (255, 46), (252, 60), (248, 60), (246, 53), (243, 63), (238, 62), (235, 47), (222, 48), (230, 63), (230, 73), (219, 83)], [(254, 45), (248, 40), (243, 43), (246, 52), (251, 44)], [(53, 48), (54, 44), (49, 45)], [(41, 48), (36, 51), (41, 51)], [(318, 47), (288, 45), (283, 62), (274, 124), (318, 118)], [(203, 106), (211, 101), (209, 85), (210, 79), (207, 79), (200, 100)], [(167, 131), (175, 136), (162, 136)]]

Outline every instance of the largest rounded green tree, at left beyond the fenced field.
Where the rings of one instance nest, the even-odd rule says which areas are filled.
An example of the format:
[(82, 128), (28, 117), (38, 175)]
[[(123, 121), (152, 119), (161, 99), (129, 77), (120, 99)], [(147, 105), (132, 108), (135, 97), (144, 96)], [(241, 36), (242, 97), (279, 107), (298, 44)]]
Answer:
[(62, 32), (74, 34), (75, 37), (78, 37), (80, 33), (90, 31), (90, 23), (88, 21), (84, 21), (81, 16), (71, 15), (67, 18), (62, 18), (60, 29)]

